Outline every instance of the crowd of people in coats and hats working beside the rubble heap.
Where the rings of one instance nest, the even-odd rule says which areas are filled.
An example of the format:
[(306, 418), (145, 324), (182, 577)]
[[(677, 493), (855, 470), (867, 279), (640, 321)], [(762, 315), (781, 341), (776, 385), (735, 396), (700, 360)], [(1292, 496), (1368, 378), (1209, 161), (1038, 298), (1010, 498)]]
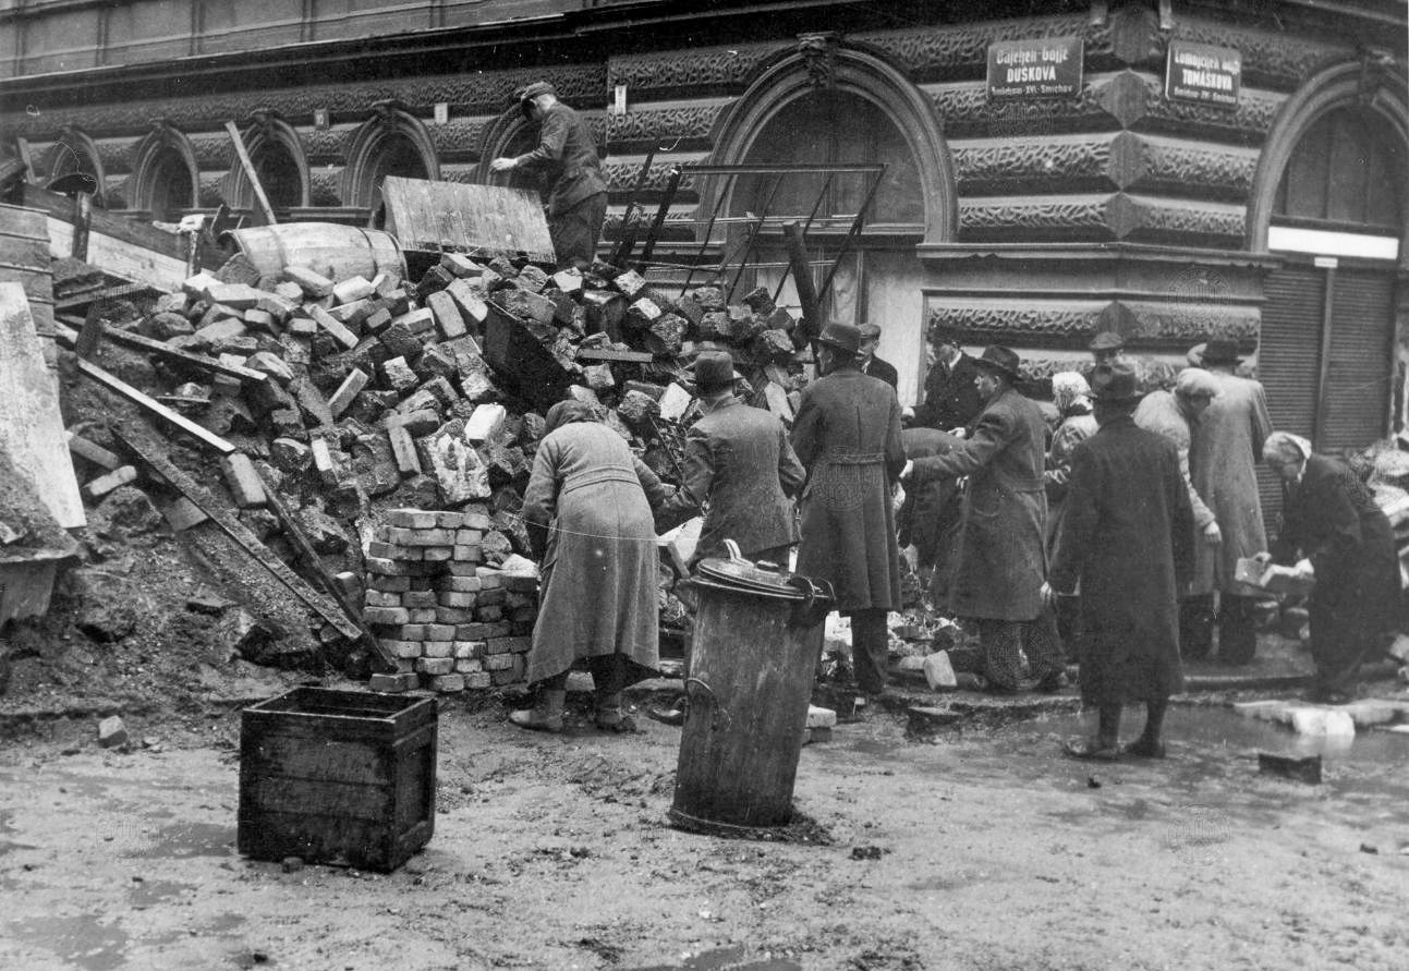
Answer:
[[(795, 550), (796, 572), (831, 585), (855, 686), (872, 695), (888, 689), (886, 614), (902, 606), (909, 548), (936, 607), (975, 634), (975, 648), (951, 651), (972, 684), (1051, 692), (1076, 664), (1099, 712), (1095, 737), (1067, 747), (1076, 758), (1162, 757), (1182, 664), (1253, 660), (1265, 592), (1240, 579), (1240, 559), (1315, 578), (1315, 695), (1348, 696), (1395, 621), (1392, 531), (1344, 462), (1272, 431), (1233, 341), (1191, 350), (1172, 386), (1153, 388), (1117, 334), (1098, 334), (1085, 373), (1053, 376), (1044, 410), (1020, 390), (1016, 352), (971, 357), (943, 326), (929, 334), (923, 399), (902, 409), (878, 338), (871, 326), (823, 330), (790, 431), (741, 400), (726, 351), (702, 351), (675, 490), (585, 406), (550, 412), (524, 502), (544, 579), (528, 672), (540, 691), (516, 724), (559, 730), (568, 669), (586, 658), (597, 724), (631, 727), (621, 691), (658, 658), (655, 536), (699, 514), (693, 562), (726, 540), (775, 564)], [(1275, 543), (1260, 459), (1284, 483)], [(1146, 706), (1144, 730), (1122, 746), (1131, 703)]]

